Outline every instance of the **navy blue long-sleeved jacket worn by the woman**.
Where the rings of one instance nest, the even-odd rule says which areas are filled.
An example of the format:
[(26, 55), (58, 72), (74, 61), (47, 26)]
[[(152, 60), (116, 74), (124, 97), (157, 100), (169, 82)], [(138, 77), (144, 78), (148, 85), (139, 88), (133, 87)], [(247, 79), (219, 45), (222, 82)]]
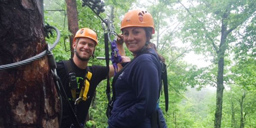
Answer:
[(150, 116), (157, 110), (161, 64), (153, 49), (134, 58), (118, 76), (109, 127), (151, 127)]

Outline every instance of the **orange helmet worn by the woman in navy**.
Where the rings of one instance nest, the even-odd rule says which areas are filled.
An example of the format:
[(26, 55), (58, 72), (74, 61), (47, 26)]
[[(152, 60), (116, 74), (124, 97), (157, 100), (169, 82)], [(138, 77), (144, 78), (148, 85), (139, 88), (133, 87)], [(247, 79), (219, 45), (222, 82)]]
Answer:
[(146, 10), (135, 9), (127, 12), (121, 22), (120, 30), (126, 27), (151, 27), (152, 34), (155, 33), (153, 17)]

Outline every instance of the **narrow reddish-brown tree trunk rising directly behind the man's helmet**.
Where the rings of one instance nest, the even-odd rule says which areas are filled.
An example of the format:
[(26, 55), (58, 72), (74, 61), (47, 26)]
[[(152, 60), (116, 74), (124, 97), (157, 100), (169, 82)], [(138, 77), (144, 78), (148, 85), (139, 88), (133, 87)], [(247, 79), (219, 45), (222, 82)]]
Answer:
[(76, 1), (66, 0), (66, 3), (67, 3), (67, 14), (68, 14), (68, 28), (69, 28), (69, 31), (73, 34), (69, 37), (70, 51), (71, 51), (71, 58), (72, 58), (74, 56), (73, 39), (78, 30), (78, 18), (77, 18)]

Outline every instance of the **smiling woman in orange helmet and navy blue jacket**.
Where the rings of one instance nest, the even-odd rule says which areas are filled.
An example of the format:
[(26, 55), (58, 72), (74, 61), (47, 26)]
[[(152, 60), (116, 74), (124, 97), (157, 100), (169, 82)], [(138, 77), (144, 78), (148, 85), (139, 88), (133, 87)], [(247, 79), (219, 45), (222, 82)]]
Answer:
[(121, 31), (134, 59), (114, 77), (109, 127), (167, 127), (158, 106), (161, 60), (150, 47), (155, 33), (153, 17), (141, 9), (129, 11)]

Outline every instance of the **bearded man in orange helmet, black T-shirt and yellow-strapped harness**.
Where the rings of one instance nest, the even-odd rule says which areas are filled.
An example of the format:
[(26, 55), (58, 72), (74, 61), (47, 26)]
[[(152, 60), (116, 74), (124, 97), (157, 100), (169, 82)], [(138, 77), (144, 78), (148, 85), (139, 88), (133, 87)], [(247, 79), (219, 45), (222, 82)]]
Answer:
[[(114, 76), (113, 66), (110, 66), (109, 72), (107, 67), (87, 66), (97, 44), (97, 34), (89, 28), (82, 28), (77, 31), (74, 37), (74, 57), (70, 60), (57, 62), (57, 74), (82, 127), (84, 127), (83, 124), (98, 83), (105, 79), (108, 73), (110, 77)], [(118, 43), (117, 48), (119, 54), (124, 56), (123, 45)], [(121, 65), (118, 64), (118, 70), (121, 68)], [(61, 127), (70, 128), (73, 121), (67, 100), (63, 100), (62, 108)]]

